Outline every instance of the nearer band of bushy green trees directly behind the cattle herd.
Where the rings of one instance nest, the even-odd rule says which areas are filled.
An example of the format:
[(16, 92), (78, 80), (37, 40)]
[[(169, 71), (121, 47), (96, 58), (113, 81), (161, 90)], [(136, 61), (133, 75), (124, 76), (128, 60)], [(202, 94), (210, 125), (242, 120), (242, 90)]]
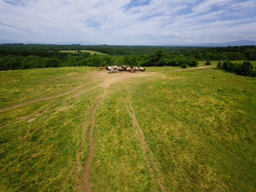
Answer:
[(71, 66), (104, 67), (108, 65), (137, 67), (180, 66), (185, 68), (187, 66), (196, 67), (198, 61), (195, 58), (185, 57), (182, 54), (165, 54), (162, 50), (148, 55), (141, 54), (140, 56), (104, 56), (98, 54), (91, 55), (88, 52), (51, 52), (51, 54), (37, 52), (34, 55), (28, 54), (28, 56), (10, 54), (0, 57), (0, 70)]

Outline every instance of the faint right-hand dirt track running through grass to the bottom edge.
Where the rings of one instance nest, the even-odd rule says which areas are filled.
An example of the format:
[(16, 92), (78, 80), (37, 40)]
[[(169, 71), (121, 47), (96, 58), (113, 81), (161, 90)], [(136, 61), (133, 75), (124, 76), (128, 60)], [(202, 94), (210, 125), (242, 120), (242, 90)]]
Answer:
[[(157, 186), (160, 186), (161, 190), (165, 191), (164, 186), (161, 182), (161, 181), (163, 181), (163, 176), (161, 175), (159, 168), (157, 168), (156, 161), (154, 160), (153, 153), (150, 150), (147, 141), (145, 141), (144, 133), (143, 133), (142, 129), (140, 128), (140, 125), (136, 119), (134, 109), (132, 108), (132, 105), (131, 105), (131, 101), (129, 100), (128, 103), (129, 103), (129, 106), (128, 106), (128, 104), (126, 104), (126, 108), (127, 108), (129, 115), (131, 115), (131, 117), (132, 117), (132, 126), (134, 127), (134, 132), (137, 135), (138, 141), (141, 143), (143, 156), (147, 162), (148, 170), (150, 172), (150, 177), (152, 179), (152, 182), (154, 183), (154, 188), (155, 188), (155, 190), (157, 190)], [(149, 157), (147, 156), (147, 153), (148, 153)], [(153, 164), (153, 168), (150, 166), (151, 162)], [(154, 172), (157, 172), (158, 177), (156, 176), (156, 174)]]

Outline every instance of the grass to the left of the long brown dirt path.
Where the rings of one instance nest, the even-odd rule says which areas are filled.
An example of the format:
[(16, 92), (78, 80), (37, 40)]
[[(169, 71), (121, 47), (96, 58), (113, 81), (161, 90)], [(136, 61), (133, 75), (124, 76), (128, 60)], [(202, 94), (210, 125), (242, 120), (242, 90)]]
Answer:
[[(26, 84), (20, 83), (12, 87), (12, 92), (17, 89), (26, 91), (27, 95), (21, 95), (20, 100), (27, 100), (27, 97), (36, 100), (49, 96), (42, 95), (39, 91), (31, 91), (36, 84), (40, 84), (39, 82), (44, 90), (49, 85), (59, 87), (58, 84), (64, 81), (62, 76), (68, 78), (70, 85), (56, 88), (52, 95), (67, 92), (75, 85), (88, 83), (88, 68), (77, 69), (22, 70), (16, 79), (17, 71), (7, 73), (12, 74), (13, 82), (24, 79), (26, 73), (30, 74), (29, 78), (36, 79), (26, 79)], [(2, 75), (5, 77), (6, 74)], [(44, 79), (48, 79), (49, 83), (44, 84)], [(93, 84), (88, 84), (81, 88), (82, 90), (72, 92), (74, 95), (83, 91), (84, 95), (81, 97), (70, 97), (72, 95), (67, 94), (1, 113), (1, 191), (76, 190), (76, 152), (82, 142), (84, 113), (95, 104), (93, 98), (100, 93), (99, 88), (86, 91), (92, 86)], [(10, 99), (16, 101), (16, 97)], [(42, 112), (42, 109), (46, 111)], [(27, 119), (17, 121), (22, 117)], [(86, 143), (88, 144), (88, 141)], [(88, 153), (86, 145), (84, 153)]]

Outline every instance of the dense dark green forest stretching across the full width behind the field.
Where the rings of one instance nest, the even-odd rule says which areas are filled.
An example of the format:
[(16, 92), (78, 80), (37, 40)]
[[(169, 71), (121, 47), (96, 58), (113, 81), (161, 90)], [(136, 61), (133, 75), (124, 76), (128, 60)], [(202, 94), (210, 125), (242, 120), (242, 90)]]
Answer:
[[(78, 51), (60, 52), (60, 51)], [(107, 55), (82, 52), (102, 52)], [(227, 67), (218, 68), (239, 75), (255, 76), (252, 64), (250, 72), (237, 72), (239, 64), (230, 61), (255, 61), (256, 47), (171, 47), (171, 46), (125, 46), (125, 45), (44, 45), (2, 44), (0, 45), (0, 70), (26, 68), (127, 65), (137, 67), (179, 66), (196, 67), (198, 61), (226, 61)], [(249, 62), (250, 63), (250, 62)], [(249, 65), (247, 63), (247, 65)], [(234, 67), (232, 67), (234, 66)], [(230, 68), (236, 68), (236, 70)]]

